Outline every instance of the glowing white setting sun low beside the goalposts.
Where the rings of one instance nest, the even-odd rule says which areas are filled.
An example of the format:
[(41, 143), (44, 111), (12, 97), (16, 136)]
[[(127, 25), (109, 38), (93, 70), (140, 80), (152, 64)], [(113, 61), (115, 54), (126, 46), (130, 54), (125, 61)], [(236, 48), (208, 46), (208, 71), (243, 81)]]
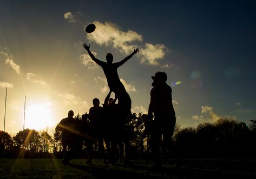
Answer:
[(31, 104), (25, 111), (25, 128), (43, 130), (52, 127), (54, 116), (50, 105)]

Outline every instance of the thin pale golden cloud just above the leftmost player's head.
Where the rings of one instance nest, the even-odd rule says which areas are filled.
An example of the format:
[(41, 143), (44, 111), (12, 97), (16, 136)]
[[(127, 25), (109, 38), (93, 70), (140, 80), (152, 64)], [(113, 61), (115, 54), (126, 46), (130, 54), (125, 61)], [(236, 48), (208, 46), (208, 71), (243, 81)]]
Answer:
[(80, 97), (76, 97), (74, 94), (70, 93), (59, 93), (57, 94), (58, 97), (63, 99), (63, 102), (66, 106), (79, 106), (79, 107), (88, 107), (88, 104), (86, 101), (81, 100)]

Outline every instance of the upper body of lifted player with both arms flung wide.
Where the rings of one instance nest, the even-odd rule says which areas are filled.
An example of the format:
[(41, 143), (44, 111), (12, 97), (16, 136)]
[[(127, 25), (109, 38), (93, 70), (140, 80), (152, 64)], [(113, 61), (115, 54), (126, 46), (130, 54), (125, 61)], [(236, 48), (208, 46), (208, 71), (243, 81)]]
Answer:
[(83, 47), (88, 51), (91, 59), (93, 59), (96, 62), (96, 64), (102, 67), (104, 74), (106, 75), (106, 78), (107, 78), (108, 87), (111, 89), (111, 91), (116, 93), (117, 89), (125, 90), (122, 82), (119, 79), (119, 75), (117, 74), (117, 68), (123, 65), (124, 63), (126, 63), (126, 61), (132, 58), (134, 54), (139, 52), (139, 49), (138, 48), (134, 49), (133, 53), (131, 53), (129, 56), (127, 56), (126, 58), (124, 58), (123, 60), (117, 63), (113, 63), (113, 55), (111, 53), (107, 53), (106, 55), (107, 62), (104, 62), (94, 57), (93, 53), (91, 53), (90, 51), (90, 45), (87, 46), (87, 44), (84, 43)]

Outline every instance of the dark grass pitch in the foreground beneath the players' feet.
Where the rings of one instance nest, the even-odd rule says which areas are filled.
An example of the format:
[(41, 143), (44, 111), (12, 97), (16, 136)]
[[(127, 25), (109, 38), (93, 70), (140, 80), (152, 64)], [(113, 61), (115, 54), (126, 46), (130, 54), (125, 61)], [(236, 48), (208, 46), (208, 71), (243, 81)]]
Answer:
[(165, 160), (161, 169), (145, 160), (115, 166), (85, 162), (74, 159), (65, 166), (60, 159), (0, 159), (0, 178), (256, 178), (256, 159), (183, 159), (178, 166)]

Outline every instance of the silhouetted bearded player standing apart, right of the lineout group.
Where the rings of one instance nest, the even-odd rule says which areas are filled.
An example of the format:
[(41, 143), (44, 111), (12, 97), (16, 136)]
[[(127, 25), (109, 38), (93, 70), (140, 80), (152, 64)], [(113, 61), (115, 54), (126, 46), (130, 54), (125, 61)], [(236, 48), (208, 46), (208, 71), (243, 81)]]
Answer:
[(161, 137), (165, 154), (172, 144), (172, 136), (176, 123), (175, 111), (172, 103), (172, 88), (166, 84), (167, 74), (157, 72), (152, 77), (153, 88), (150, 91), (150, 104), (148, 107), (148, 120), (153, 120), (152, 133), (150, 136), (150, 150), (156, 162), (161, 166)]

